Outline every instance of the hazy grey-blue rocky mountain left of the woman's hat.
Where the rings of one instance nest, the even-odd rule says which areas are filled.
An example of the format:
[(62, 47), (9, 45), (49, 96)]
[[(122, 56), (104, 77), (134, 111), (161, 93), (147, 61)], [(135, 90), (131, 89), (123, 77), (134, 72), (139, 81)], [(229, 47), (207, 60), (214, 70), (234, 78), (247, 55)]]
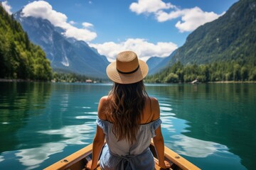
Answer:
[(23, 17), (22, 10), (14, 13), (14, 18), (28, 33), (31, 41), (40, 45), (46, 52), (53, 70), (74, 72), (88, 77), (106, 78), (109, 64), (105, 56), (89, 47), (86, 42), (66, 38), (63, 29), (53, 26), (50, 21), (32, 16)]

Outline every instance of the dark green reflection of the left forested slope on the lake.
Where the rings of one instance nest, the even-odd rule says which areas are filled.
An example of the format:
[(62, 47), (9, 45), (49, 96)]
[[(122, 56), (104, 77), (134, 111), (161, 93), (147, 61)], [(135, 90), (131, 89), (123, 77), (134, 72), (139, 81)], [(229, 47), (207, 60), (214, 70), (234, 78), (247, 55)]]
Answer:
[(0, 153), (19, 145), (15, 135), (31, 116), (40, 115), (50, 97), (50, 84), (1, 82)]

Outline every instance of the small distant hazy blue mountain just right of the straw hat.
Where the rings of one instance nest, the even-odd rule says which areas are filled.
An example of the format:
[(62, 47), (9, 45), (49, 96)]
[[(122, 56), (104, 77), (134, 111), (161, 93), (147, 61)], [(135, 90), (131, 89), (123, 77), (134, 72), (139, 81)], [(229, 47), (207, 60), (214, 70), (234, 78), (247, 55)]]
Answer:
[(169, 66), (171, 58), (176, 54), (176, 50), (169, 55), (169, 57), (151, 57), (146, 61), (149, 66), (149, 75), (161, 72), (164, 68)]

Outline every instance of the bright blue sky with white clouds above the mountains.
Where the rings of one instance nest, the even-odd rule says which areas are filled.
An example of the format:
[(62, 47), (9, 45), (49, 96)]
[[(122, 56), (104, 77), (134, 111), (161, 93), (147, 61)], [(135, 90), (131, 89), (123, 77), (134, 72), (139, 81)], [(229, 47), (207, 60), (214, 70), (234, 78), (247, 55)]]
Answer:
[(122, 50), (142, 60), (166, 57), (198, 26), (215, 20), (238, 0), (7, 0), (24, 17), (48, 19), (63, 35), (84, 40), (112, 61)]

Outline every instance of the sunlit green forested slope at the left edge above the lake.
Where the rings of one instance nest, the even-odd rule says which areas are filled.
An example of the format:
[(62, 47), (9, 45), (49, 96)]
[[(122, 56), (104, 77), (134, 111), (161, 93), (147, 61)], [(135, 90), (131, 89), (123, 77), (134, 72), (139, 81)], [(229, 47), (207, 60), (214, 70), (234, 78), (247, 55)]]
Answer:
[(52, 69), (41, 47), (0, 4), (0, 79), (50, 80)]

